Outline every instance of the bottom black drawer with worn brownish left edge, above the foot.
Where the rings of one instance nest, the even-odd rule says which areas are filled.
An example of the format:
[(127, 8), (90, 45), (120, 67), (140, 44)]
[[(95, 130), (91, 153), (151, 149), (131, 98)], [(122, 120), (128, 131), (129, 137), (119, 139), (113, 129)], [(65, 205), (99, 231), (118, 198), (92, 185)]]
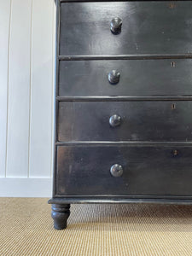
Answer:
[(55, 180), (58, 195), (192, 195), (192, 148), (59, 146)]

